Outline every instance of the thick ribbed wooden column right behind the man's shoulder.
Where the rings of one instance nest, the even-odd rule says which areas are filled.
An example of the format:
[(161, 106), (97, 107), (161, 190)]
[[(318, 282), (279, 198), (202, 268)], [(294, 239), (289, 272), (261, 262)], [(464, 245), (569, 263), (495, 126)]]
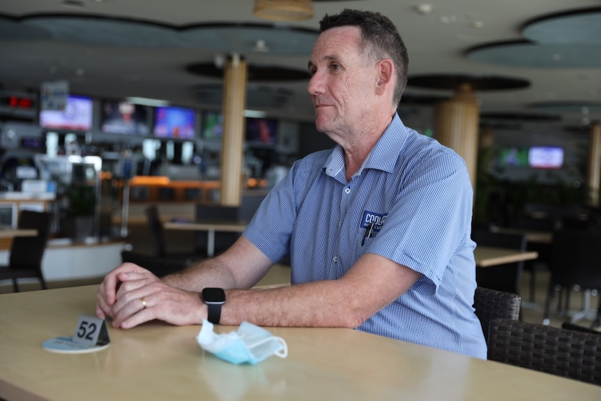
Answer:
[(471, 85), (462, 84), (455, 96), (436, 105), (434, 128), (434, 137), (465, 160), (474, 190), (478, 162), (479, 114), (478, 99), (471, 91)]

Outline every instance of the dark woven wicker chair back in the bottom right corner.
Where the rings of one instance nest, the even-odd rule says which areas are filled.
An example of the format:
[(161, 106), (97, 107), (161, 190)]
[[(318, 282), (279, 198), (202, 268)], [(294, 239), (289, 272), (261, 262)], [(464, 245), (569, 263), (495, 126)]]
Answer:
[(488, 358), (601, 385), (601, 335), (496, 319), (490, 324)]

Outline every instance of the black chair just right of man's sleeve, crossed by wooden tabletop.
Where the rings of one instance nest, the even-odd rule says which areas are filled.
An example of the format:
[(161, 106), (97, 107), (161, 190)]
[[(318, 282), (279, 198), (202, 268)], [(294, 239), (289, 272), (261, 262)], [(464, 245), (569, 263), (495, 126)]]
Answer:
[[(486, 229), (475, 229), (472, 239), (478, 245), (526, 250), (526, 236), (522, 234), (503, 234)], [(524, 262), (499, 264), (476, 268), (476, 282), (479, 287), (519, 294)]]

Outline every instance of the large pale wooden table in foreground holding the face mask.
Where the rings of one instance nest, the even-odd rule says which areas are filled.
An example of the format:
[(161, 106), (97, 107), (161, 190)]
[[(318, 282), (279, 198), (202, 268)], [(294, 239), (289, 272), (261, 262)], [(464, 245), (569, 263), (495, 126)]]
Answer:
[[(196, 343), (199, 326), (109, 326), (111, 345), (55, 354), (93, 315), (96, 286), (0, 295), (0, 398), (13, 400), (601, 400), (601, 386), (347, 328), (268, 328), (289, 356), (232, 365)], [(221, 332), (235, 327), (218, 326)]]

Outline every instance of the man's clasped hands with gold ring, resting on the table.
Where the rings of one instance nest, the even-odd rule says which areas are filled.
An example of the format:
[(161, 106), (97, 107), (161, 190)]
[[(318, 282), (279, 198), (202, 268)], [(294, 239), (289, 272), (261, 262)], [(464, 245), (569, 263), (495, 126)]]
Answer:
[(150, 271), (124, 263), (109, 272), (98, 287), (96, 315), (111, 317), (112, 326), (132, 328), (159, 319), (178, 326), (201, 324), (206, 305), (196, 292), (166, 285)]

